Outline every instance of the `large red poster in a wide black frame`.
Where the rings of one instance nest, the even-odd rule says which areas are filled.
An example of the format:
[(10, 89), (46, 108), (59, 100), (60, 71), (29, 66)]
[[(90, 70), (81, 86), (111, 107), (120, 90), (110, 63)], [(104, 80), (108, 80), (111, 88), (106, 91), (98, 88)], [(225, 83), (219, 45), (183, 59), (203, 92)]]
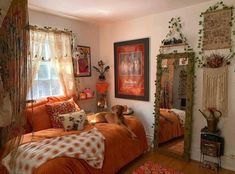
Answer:
[(114, 43), (115, 97), (149, 100), (149, 38)]

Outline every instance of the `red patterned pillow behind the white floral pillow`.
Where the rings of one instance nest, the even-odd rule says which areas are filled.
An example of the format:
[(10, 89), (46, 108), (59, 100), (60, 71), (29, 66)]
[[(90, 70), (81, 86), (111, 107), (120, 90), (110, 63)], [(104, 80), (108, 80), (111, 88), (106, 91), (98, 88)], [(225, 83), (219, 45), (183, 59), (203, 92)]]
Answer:
[(55, 102), (46, 104), (45, 106), (50, 116), (53, 128), (63, 128), (63, 125), (58, 117), (60, 114), (66, 114), (77, 111), (74, 103), (71, 101)]

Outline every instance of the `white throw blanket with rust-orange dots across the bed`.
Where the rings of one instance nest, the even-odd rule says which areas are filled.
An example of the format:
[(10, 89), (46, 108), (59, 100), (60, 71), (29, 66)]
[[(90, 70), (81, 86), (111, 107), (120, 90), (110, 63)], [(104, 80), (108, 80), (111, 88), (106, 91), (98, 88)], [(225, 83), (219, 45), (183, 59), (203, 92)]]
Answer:
[[(104, 140), (102, 133), (93, 128), (79, 135), (64, 135), (23, 144), (18, 148), (14, 171), (30, 174), (48, 160), (62, 156), (84, 159), (90, 166), (100, 169), (104, 161)], [(3, 159), (3, 165), (9, 173), (14, 173), (9, 165), (10, 156), (11, 153)]]

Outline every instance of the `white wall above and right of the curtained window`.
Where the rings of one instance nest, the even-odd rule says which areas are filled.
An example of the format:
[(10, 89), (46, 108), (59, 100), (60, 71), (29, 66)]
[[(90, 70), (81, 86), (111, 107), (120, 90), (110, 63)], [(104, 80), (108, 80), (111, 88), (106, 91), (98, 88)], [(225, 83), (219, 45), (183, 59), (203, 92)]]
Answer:
[[(72, 30), (77, 37), (77, 44), (83, 46), (90, 46), (91, 48), (91, 65), (97, 64), (99, 58), (99, 26), (92, 23), (77, 21), (67, 18), (54, 16), (47, 13), (29, 10), (30, 25), (37, 25), (39, 27), (50, 26), (63, 30), (64, 28)], [(76, 45), (77, 45), (76, 44)], [(91, 88), (95, 90), (95, 82), (97, 80), (96, 72), (92, 69), (91, 77), (80, 77), (79, 89)], [(79, 102), (86, 110), (96, 110), (96, 100), (89, 100), (89, 102)], [(84, 104), (85, 103), (85, 104)], [(87, 103), (90, 104), (87, 106)]]

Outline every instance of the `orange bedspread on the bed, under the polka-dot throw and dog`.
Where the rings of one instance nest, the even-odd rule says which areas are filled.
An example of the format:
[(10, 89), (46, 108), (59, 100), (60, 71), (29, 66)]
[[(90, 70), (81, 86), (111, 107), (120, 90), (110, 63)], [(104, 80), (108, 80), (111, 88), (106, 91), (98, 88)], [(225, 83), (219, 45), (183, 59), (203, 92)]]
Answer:
[[(147, 141), (143, 125), (134, 116), (125, 116), (131, 130), (137, 135), (136, 139), (130, 137), (129, 132), (115, 124), (99, 123), (95, 127), (105, 137), (105, 156), (102, 169), (89, 166), (84, 160), (69, 157), (52, 159), (34, 170), (34, 174), (114, 174), (124, 165), (147, 150)], [(85, 130), (93, 128), (86, 126)], [(80, 133), (81, 131), (64, 132), (62, 129), (46, 129), (34, 133), (33, 140), (61, 136), (65, 134)], [(32, 134), (26, 134), (23, 143), (29, 142)]]

